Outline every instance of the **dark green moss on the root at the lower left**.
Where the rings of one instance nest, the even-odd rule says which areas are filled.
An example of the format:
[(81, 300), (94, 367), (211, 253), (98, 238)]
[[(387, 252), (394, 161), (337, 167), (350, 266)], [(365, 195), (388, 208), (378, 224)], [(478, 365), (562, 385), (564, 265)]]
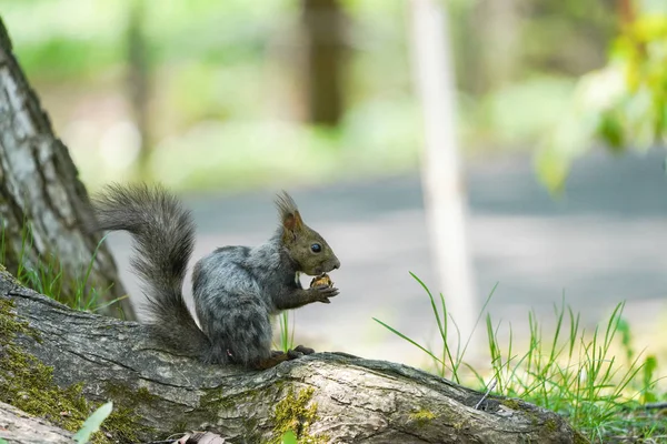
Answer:
[[(82, 385), (61, 389), (53, 382), (53, 367), (16, 345), (17, 335), (38, 340), (27, 322), (17, 320), (13, 301), (0, 297), (0, 401), (53, 424), (77, 432), (97, 408), (82, 395)], [(139, 391), (139, 397), (150, 395)], [(133, 401), (136, 403), (136, 398)], [(102, 424), (92, 443), (137, 442), (137, 431), (143, 430), (128, 403), (115, 403), (113, 412)]]

